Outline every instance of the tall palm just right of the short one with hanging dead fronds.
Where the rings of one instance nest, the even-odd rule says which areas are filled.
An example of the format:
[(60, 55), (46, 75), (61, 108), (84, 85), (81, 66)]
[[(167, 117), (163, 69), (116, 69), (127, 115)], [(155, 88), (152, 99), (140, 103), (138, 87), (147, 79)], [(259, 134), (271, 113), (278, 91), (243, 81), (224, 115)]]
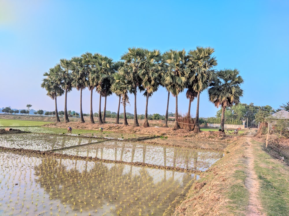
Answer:
[(141, 80), (138, 76), (138, 69), (144, 61), (144, 49), (143, 48), (128, 48), (128, 52), (125, 52), (121, 59), (125, 61), (123, 67), (120, 68), (120, 72), (123, 73), (126, 79), (132, 83), (131, 92), (134, 94), (134, 126), (138, 125), (138, 116), (136, 111), (136, 94), (137, 90), (142, 90), (140, 87)]

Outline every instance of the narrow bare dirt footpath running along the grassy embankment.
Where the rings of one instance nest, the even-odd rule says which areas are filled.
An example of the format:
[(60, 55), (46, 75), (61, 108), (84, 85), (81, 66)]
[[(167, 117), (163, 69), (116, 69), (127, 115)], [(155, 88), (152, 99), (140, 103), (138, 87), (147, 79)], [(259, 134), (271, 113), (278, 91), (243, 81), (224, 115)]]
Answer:
[(247, 141), (247, 147), (245, 148), (246, 164), (247, 168), (245, 173), (247, 178), (245, 179), (245, 187), (249, 191), (249, 204), (247, 206), (246, 215), (248, 216), (266, 216), (263, 213), (263, 208), (259, 199), (260, 184), (258, 177), (254, 170), (254, 157), (253, 157), (253, 147), (251, 143), (251, 134), (245, 136)]

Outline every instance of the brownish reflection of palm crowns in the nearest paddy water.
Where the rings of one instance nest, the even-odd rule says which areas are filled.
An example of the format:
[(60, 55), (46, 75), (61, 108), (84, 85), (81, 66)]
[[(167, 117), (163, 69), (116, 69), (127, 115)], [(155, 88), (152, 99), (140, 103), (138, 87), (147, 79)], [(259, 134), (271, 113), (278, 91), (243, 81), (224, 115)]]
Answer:
[[(73, 163), (75, 165), (70, 166)], [(84, 170), (81, 170), (81, 167)], [(98, 213), (103, 206), (115, 206), (116, 212), (125, 205), (126, 209), (122, 209), (125, 215), (130, 214), (131, 209), (137, 209), (136, 206), (152, 207), (143, 209), (143, 212), (152, 211), (153, 208), (164, 211), (166, 205), (161, 204), (174, 199), (174, 196), (180, 193), (175, 172), (167, 179), (166, 170), (158, 171), (163, 171), (164, 177), (155, 182), (154, 178), (157, 177), (149, 170), (155, 171), (132, 165), (128, 167), (123, 164), (52, 158), (43, 158), (35, 167), (36, 182), (40, 183), (51, 199), (65, 202), (74, 210), (98, 209)], [(184, 179), (189, 177), (190, 175), (187, 175)]]

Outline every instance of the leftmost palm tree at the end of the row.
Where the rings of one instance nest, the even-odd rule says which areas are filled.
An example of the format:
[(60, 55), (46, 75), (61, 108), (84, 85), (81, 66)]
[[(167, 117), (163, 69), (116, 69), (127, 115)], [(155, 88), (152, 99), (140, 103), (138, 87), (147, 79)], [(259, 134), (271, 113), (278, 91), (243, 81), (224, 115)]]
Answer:
[[(60, 67), (59, 67), (60, 68)], [(41, 88), (45, 88), (47, 91), (47, 96), (49, 96), (52, 100), (55, 101), (55, 118), (56, 122), (60, 122), (57, 110), (57, 97), (62, 96), (64, 94), (64, 90), (57, 82), (58, 75), (58, 68), (55, 66), (54, 68), (50, 68), (49, 72), (45, 72), (43, 76), (47, 76), (46, 78), (42, 79)]]

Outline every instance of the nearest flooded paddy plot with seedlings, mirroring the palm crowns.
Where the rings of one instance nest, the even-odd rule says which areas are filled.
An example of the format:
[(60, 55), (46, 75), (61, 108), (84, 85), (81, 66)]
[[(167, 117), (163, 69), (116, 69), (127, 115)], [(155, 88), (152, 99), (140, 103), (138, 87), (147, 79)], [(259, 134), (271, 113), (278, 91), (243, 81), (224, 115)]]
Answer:
[(170, 215), (197, 175), (0, 152), (1, 215)]

